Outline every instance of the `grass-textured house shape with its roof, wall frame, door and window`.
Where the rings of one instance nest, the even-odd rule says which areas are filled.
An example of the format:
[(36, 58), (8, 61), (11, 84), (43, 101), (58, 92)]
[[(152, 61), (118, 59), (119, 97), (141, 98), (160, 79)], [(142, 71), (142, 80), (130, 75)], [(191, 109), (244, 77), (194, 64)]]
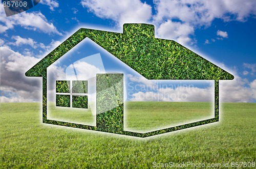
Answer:
[[(26, 72), (26, 76), (42, 77), (42, 122), (137, 137), (148, 137), (218, 122), (219, 80), (232, 80), (233, 75), (175, 41), (155, 38), (154, 30), (155, 27), (151, 24), (124, 24), (123, 33), (81, 28), (40, 60)], [(49, 105), (47, 102), (47, 82), (49, 81), (47, 69), (86, 38), (103, 47), (119, 61), (131, 67), (146, 79), (214, 80), (214, 118), (145, 133), (125, 131), (123, 127), (124, 75), (98, 70), (95, 77), (88, 77), (89, 80), (84, 80), (75, 77), (77, 72), (74, 64), (74, 70), (72, 70), (71, 65), (71, 73), (68, 73), (73, 73), (74, 79), (56, 80), (56, 106), (88, 108), (90, 102), (88, 89), (91, 84), (90, 80), (94, 80), (96, 83), (96, 126), (50, 120), (48, 118)], [(87, 74), (87, 71), (84, 74)], [(66, 95), (71, 91), (71, 95)], [(104, 95), (104, 93), (109, 95)], [(115, 97), (110, 98), (110, 95)], [(82, 102), (81, 104), (79, 100)], [(108, 103), (107, 106), (106, 103)]]

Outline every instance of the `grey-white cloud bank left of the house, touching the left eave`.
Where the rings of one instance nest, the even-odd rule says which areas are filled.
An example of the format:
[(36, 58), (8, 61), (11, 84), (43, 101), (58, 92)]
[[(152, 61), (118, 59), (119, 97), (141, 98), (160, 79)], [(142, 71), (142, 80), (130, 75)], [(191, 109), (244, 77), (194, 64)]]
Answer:
[(8, 46), (0, 47), (0, 59), (1, 90), (8, 93), (8, 96), (1, 96), (1, 101), (38, 101), (39, 79), (27, 78), (25, 72), (39, 59), (22, 55)]

